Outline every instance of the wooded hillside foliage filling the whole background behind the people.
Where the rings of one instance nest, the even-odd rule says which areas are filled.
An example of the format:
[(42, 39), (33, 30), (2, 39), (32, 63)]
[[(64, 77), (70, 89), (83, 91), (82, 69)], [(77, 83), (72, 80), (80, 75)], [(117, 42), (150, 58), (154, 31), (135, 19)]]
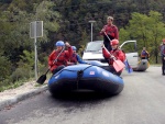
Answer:
[(91, 37), (90, 20), (96, 21), (94, 40), (102, 40), (99, 32), (108, 15), (114, 18), (121, 42), (136, 40), (139, 48), (146, 46), (157, 63), (157, 46), (165, 37), (164, 5), (164, 0), (0, 0), (0, 61), (7, 64), (0, 68), (1, 77), (10, 77), (11, 71), (4, 71), (8, 69), (12, 76), (26, 67), (33, 71), (34, 61), (29, 61), (34, 55), (30, 23), (36, 20), (44, 22), (44, 36), (37, 38), (41, 67), (47, 66), (46, 57), (58, 40), (68, 41), (82, 52)]

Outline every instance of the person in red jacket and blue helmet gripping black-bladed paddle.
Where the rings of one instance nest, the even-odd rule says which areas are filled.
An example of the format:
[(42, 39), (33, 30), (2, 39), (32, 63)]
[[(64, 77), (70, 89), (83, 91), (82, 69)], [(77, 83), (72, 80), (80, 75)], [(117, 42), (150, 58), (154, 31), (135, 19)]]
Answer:
[[(73, 48), (68, 43), (58, 41), (55, 46), (57, 48), (48, 56), (48, 66), (53, 75), (63, 69), (65, 66), (68, 66), (67, 60), (73, 55)], [(68, 48), (67, 50), (64, 50), (65, 46)]]

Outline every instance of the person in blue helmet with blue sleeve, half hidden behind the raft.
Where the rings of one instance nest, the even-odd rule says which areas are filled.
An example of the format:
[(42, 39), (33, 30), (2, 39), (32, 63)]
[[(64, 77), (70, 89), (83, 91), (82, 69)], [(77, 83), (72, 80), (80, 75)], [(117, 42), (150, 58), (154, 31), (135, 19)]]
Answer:
[(76, 50), (77, 50), (76, 46), (72, 46), (72, 48), (73, 48), (73, 55), (68, 59), (68, 65), (76, 65), (77, 63), (79, 63), (79, 64), (88, 64), (88, 63), (84, 61), (80, 58), (80, 56), (76, 53)]

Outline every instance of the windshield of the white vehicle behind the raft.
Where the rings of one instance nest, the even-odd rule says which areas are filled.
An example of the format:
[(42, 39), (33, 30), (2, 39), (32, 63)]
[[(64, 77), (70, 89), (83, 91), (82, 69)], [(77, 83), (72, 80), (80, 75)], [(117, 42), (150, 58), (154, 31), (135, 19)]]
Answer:
[(86, 47), (86, 52), (99, 52), (101, 50), (102, 41), (89, 42)]

